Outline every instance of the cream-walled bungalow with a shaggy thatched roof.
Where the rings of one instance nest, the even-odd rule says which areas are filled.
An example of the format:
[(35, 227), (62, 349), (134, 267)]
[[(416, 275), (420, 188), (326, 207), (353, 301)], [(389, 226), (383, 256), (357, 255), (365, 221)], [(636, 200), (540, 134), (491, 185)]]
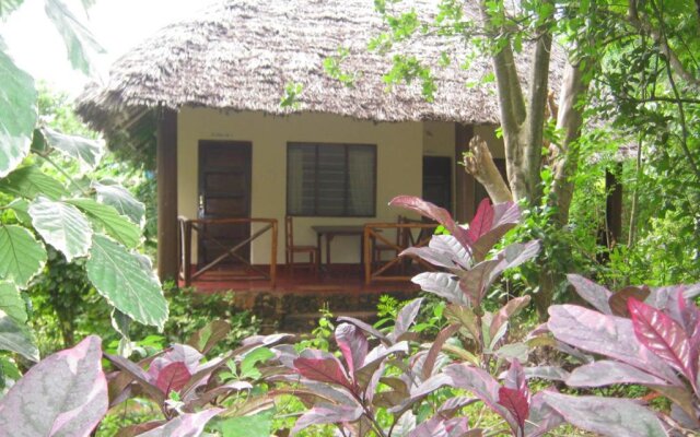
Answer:
[[(428, 0), (404, 3), (435, 13)], [(464, 69), (464, 42), (425, 36), (395, 49), (432, 66), (452, 60), (433, 70), (434, 102), (418, 82), (387, 90), (390, 54), (366, 48), (386, 31), (372, 0), (222, 0), (161, 29), (116, 61), (106, 83), (85, 90), (78, 111), (107, 139), (127, 133), (132, 146), (152, 147), (158, 131), (162, 275), (177, 262), (177, 215), (294, 215), (296, 239), (307, 244), (316, 224), (395, 221), (386, 203), (401, 193), (468, 218), (480, 196), (457, 167), (468, 139), (478, 132), (502, 157), (494, 86), (468, 86), (490, 63)], [(341, 48), (352, 86), (324, 69)], [(290, 84), (302, 91), (282, 107)], [(334, 249), (339, 261), (359, 257), (348, 243)], [(254, 244), (250, 258), (265, 263), (267, 247)]]

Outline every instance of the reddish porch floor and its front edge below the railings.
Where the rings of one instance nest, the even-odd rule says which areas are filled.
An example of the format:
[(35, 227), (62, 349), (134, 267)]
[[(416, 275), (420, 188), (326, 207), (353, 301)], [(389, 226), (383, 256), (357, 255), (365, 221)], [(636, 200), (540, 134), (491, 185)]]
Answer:
[[(307, 270), (291, 272), (280, 265), (277, 286), (269, 280), (249, 279), (249, 271), (224, 268), (209, 271), (191, 282), (197, 293), (234, 293), (234, 305), (252, 310), (261, 321), (264, 331), (310, 331), (327, 308), (334, 316), (352, 316), (373, 321), (380, 296), (388, 294), (399, 300), (416, 297), (420, 287), (410, 282), (373, 282), (365, 285), (359, 264), (334, 264), (318, 276)], [(184, 286), (179, 281), (179, 286)]]

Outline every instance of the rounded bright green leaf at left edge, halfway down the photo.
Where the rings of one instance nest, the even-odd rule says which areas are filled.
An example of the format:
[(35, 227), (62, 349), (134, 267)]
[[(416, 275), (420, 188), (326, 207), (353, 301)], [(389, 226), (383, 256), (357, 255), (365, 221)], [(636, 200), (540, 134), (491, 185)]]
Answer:
[(22, 226), (0, 226), (0, 280), (25, 288), (46, 263), (46, 249)]

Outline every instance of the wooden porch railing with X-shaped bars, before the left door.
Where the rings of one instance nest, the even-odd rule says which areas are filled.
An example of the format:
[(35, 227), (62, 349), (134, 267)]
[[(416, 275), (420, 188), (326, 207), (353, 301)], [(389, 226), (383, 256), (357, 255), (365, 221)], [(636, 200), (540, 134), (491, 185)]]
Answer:
[[(277, 285), (277, 236), (278, 236), (278, 224), (276, 218), (198, 218), (191, 220), (184, 216), (177, 217), (179, 223), (179, 277), (185, 282), (185, 285), (190, 285), (192, 280), (205, 274), (207, 271), (211, 270), (215, 265), (220, 264), (228, 258), (233, 258), (237, 261), (243, 262), (248, 269), (257, 272), (259, 276), (248, 275), (247, 280), (255, 279), (265, 279), (270, 281), (270, 285), (275, 287)], [(198, 269), (192, 272), (191, 270), (191, 246), (192, 246), (192, 231), (197, 233), (205, 233), (205, 226), (215, 224), (215, 225), (234, 225), (234, 224), (253, 224), (253, 223), (261, 223), (265, 224), (262, 228), (255, 232), (247, 239), (238, 243), (237, 245), (229, 248), (223, 246), (215, 239), (209, 239), (210, 241), (219, 245), (224, 252), (217, 257), (213, 261), (209, 262), (207, 265)], [(270, 269), (269, 272), (253, 265), (247, 259), (237, 253), (242, 248), (249, 246), (256, 238), (260, 237), (268, 231), (272, 232), (272, 238), (270, 241)], [(206, 238), (206, 237), (205, 237)]]

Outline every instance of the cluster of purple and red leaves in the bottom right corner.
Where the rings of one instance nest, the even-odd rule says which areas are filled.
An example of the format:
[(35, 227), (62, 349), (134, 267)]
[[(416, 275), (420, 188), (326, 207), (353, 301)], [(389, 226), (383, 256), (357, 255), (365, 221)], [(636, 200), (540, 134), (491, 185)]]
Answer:
[[(547, 328), (555, 339), (583, 353), (603, 356), (586, 362), (571, 373), (562, 371), (570, 387), (605, 387), (615, 383), (645, 386), (673, 402), (670, 424), (700, 430), (698, 391), (698, 333), (700, 309), (693, 298), (700, 285), (661, 288), (626, 287), (616, 293), (578, 275), (569, 280), (579, 295), (596, 310), (575, 305), (549, 309)], [(633, 414), (643, 428), (623, 434), (612, 427), (611, 415), (599, 412), (623, 404), (605, 398), (582, 399), (558, 394), (551, 405), (574, 425), (603, 435), (666, 435), (654, 414), (635, 405)], [(642, 417), (646, 417), (642, 421)], [(652, 426), (653, 425), (653, 426)], [(637, 430), (634, 430), (637, 429)], [(634, 434), (637, 433), (637, 434)]]

